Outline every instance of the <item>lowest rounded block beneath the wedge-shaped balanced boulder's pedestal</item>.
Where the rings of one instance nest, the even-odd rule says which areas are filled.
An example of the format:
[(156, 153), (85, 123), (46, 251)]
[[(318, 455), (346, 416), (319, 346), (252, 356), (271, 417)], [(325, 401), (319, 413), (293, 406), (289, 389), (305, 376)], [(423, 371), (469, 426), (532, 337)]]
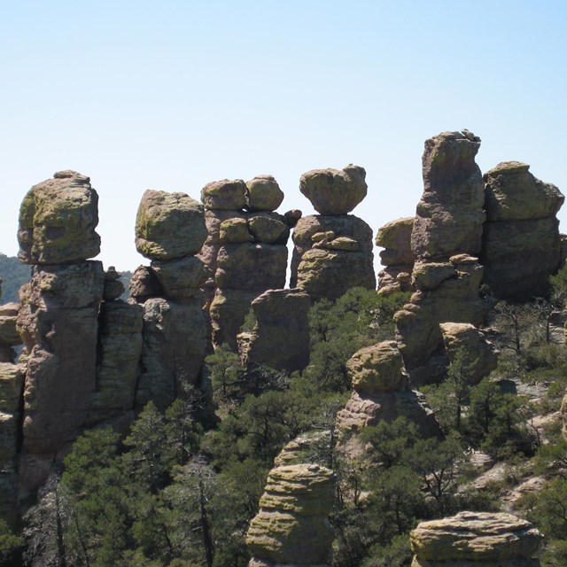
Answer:
[(353, 287), (376, 288), (372, 254), (312, 248), (298, 267), (297, 287), (313, 299), (338, 299)]

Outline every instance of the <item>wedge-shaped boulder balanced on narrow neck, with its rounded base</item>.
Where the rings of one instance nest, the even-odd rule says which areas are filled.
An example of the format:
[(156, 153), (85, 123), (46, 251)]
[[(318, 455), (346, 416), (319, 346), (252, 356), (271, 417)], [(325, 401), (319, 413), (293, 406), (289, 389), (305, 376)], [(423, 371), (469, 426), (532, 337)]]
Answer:
[(301, 218), (293, 231), (291, 287), (312, 299), (338, 299), (349, 289), (376, 288), (372, 229), (349, 214), (367, 194), (366, 172), (315, 169), (301, 175), (299, 189), (318, 215)]

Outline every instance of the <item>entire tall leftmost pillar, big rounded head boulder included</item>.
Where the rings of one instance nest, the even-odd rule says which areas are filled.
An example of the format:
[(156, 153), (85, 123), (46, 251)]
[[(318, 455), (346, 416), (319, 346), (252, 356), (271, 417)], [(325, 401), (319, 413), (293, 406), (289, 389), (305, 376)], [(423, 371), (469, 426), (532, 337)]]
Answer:
[(103, 299), (97, 192), (89, 177), (61, 171), (27, 192), (19, 212), (19, 260), (32, 279), (20, 291), (25, 345), (20, 485), (33, 489), (58, 452), (92, 423), (98, 311)]

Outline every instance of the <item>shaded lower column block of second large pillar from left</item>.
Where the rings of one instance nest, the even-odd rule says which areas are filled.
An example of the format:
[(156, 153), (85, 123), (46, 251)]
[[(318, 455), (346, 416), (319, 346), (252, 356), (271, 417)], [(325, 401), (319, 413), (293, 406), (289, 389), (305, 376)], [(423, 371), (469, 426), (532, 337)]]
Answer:
[(206, 322), (199, 299), (144, 303), (142, 372), (136, 407), (152, 400), (165, 410), (185, 384), (197, 385), (206, 356)]

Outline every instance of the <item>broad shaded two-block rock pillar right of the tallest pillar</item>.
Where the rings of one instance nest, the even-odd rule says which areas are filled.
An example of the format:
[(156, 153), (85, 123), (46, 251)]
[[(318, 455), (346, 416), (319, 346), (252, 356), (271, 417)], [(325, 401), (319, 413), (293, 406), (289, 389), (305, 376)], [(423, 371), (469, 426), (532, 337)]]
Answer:
[(517, 161), (485, 173), (486, 222), (481, 261), (485, 283), (500, 299), (545, 297), (561, 261), (556, 214), (563, 194)]

